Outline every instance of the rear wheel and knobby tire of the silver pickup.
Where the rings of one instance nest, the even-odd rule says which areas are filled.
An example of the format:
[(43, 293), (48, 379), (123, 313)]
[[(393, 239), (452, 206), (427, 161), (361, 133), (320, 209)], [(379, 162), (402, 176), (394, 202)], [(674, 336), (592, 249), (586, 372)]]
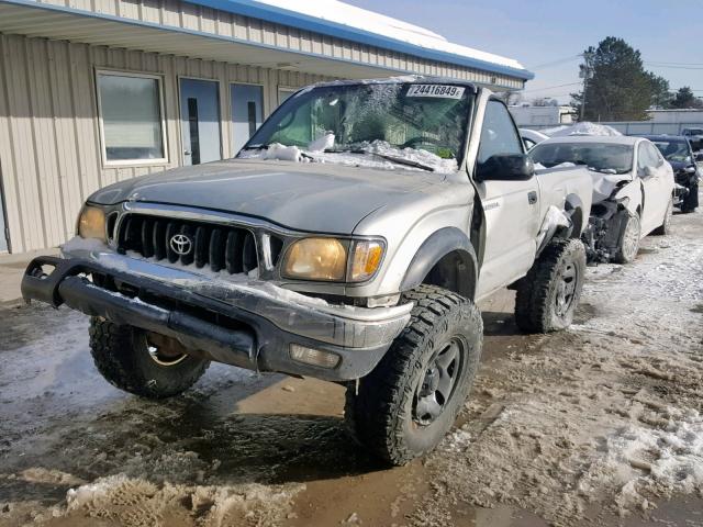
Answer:
[(567, 328), (583, 288), (585, 248), (580, 239), (555, 239), (517, 282), (515, 323), (525, 333)]

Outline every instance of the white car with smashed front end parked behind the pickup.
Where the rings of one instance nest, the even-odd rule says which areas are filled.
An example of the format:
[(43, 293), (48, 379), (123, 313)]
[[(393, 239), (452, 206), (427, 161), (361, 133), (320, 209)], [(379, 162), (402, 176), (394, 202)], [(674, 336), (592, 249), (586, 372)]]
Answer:
[(551, 137), (531, 157), (547, 168), (583, 165), (593, 178), (593, 204), (583, 235), (589, 258), (627, 264), (649, 233), (667, 234), (673, 208), (673, 170), (641, 137)]

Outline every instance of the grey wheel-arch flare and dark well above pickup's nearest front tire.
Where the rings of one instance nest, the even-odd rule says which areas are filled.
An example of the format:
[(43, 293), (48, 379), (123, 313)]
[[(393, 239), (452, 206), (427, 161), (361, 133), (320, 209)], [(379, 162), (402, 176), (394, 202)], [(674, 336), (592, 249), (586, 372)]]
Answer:
[(456, 227), (444, 227), (434, 232), (420, 246), (401, 282), (401, 291), (416, 288), (433, 271), (447, 289), (473, 300), (478, 281), (478, 261), (471, 242)]

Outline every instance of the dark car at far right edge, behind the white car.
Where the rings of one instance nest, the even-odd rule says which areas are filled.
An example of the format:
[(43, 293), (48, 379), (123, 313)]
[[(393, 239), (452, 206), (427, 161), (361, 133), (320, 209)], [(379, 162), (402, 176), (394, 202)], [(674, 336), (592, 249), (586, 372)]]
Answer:
[(693, 154), (691, 143), (680, 135), (645, 135), (673, 168), (676, 182), (684, 189), (678, 189), (674, 205), (681, 212), (694, 212), (699, 206), (699, 169), (696, 162), (703, 161), (703, 154)]

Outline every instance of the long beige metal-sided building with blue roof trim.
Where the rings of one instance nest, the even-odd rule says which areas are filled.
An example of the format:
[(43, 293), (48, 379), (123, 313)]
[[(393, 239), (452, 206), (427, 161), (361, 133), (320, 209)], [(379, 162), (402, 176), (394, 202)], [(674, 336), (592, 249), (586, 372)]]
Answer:
[[(232, 157), (246, 139), (237, 136), (246, 128), (237, 115), (248, 109), (253, 130), (312, 82), (417, 72), (521, 89), (532, 78), (338, 25), (250, 0), (0, 0), (0, 251), (64, 243), (100, 187), (199, 162), (192, 134), (205, 125), (202, 146), (219, 142), (216, 157)], [(148, 131), (103, 108), (108, 81), (125, 79), (140, 79), (158, 98), (156, 132), (144, 136), (158, 155), (127, 159), (130, 141)], [(204, 111), (204, 88), (212, 88), (217, 122), (198, 121), (196, 110), (193, 127), (189, 112), (198, 102)], [(254, 93), (248, 106), (238, 92)], [(115, 141), (119, 148), (105, 143)]]

